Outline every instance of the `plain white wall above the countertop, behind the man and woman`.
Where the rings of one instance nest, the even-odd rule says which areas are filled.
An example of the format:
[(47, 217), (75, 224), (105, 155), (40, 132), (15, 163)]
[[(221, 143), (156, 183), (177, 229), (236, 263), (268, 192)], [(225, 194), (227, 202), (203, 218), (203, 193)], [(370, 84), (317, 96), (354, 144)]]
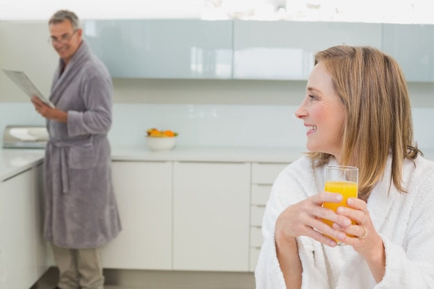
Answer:
[[(22, 69), (49, 94), (58, 56), (46, 42), (46, 21), (0, 21), (0, 67)], [(185, 146), (304, 146), (293, 112), (303, 81), (114, 79), (114, 145), (144, 144), (147, 128), (180, 132)], [(434, 148), (434, 84), (410, 83), (415, 138)], [(0, 130), (44, 124), (24, 95), (0, 72)]]

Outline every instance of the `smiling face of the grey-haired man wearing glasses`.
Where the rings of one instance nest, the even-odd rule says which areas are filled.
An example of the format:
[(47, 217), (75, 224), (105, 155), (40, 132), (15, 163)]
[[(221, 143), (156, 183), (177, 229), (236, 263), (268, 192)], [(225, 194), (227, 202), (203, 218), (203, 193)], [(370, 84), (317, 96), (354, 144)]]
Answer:
[(60, 23), (50, 24), (51, 43), (60, 58), (68, 64), (81, 44), (83, 30), (73, 30), (71, 21), (64, 20)]

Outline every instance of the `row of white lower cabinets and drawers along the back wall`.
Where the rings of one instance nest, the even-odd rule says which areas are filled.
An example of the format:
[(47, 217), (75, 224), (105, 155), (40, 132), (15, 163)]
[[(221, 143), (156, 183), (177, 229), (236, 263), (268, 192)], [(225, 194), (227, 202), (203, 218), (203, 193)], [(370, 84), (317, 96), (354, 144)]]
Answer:
[(272, 183), (284, 163), (112, 162), (123, 230), (104, 268), (252, 272)]

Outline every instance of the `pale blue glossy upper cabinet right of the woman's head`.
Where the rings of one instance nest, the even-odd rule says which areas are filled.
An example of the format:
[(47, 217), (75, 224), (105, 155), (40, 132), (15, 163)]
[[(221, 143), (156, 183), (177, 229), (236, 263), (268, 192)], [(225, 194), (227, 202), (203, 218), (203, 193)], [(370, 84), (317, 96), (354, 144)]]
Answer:
[(409, 82), (434, 82), (434, 26), (383, 24), (383, 51), (392, 55)]

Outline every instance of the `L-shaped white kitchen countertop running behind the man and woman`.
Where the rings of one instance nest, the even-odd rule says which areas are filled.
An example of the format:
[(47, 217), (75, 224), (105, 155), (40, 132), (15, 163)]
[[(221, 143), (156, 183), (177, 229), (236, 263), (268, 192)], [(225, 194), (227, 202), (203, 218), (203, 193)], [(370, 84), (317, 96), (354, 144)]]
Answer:
[[(263, 162), (289, 164), (298, 159), (305, 148), (242, 148), (242, 147), (175, 147), (153, 152), (144, 146), (113, 146), (114, 161), (213, 161)], [(426, 159), (434, 160), (434, 150), (424, 150)], [(3, 148), (0, 154), (0, 182), (42, 163), (43, 149)]]

